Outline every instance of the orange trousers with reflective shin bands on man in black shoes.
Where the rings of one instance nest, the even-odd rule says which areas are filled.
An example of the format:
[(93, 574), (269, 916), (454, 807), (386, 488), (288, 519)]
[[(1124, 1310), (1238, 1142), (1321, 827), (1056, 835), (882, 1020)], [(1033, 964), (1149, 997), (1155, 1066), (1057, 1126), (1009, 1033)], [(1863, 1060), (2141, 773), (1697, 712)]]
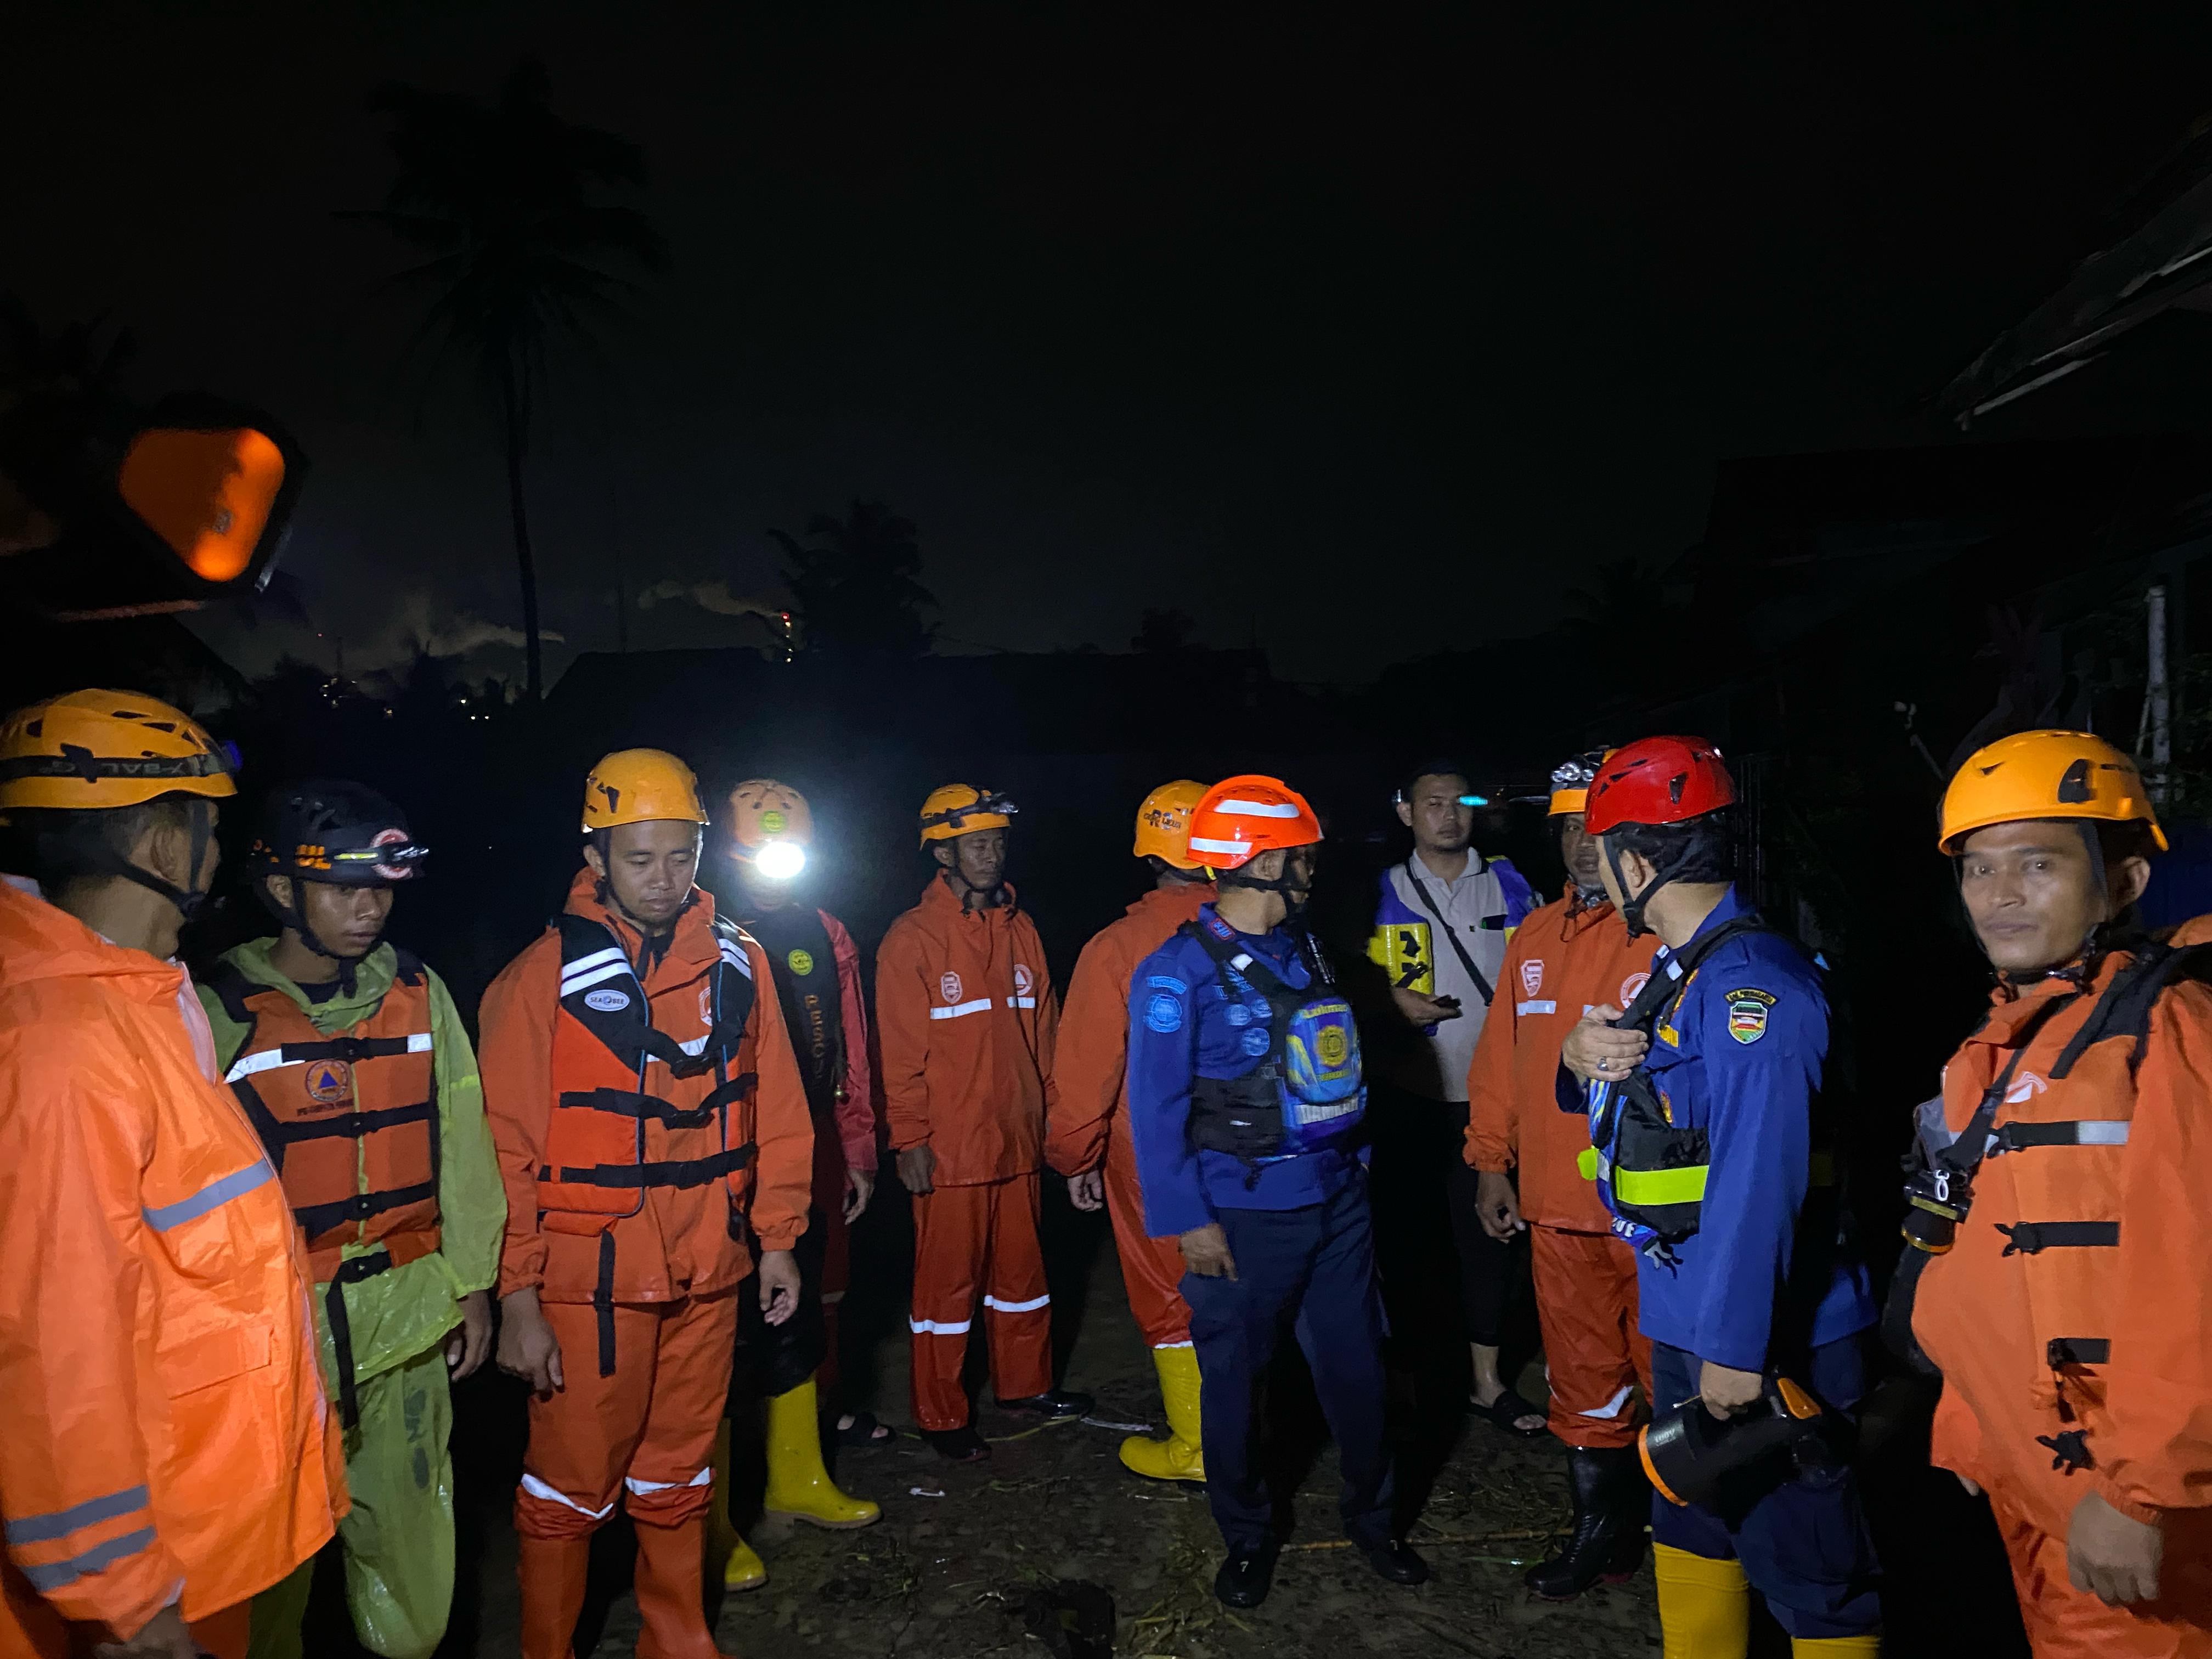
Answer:
[(969, 1420), (960, 1365), (982, 1292), (991, 1389), (1022, 1400), (1053, 1387), (1053, 1296), (1037, 1245), (1035, 1175), (940, 1186), (914, 1201), (914, 1420), (960, 1429)]

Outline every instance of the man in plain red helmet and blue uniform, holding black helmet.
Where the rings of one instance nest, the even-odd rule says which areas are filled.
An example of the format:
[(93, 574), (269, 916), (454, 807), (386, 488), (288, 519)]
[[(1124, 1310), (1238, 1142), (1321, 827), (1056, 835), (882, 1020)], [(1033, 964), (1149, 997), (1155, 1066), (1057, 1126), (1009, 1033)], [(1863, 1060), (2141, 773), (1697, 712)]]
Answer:
[[(1606, 896), (1657, 933), (1650, 982), (1562, 1044), (1588, 1091), (1586, 1172), (1637, 1250), (1652, 1400), (1752, 1409), (1776, 1374), (1843, 1418), (1865, 1394), (1874, 1298), (1823, 1137), (1818, 971), (1734, 889), (1734, 779), (1694, 737), (1606, 757), (1584, 805)], [(1666, 1652), (1741, 1659), (1750, 1588), (1798, 1655), (1880, 1650), (1880, 1568), (1847, 1449), (1801, 1442), (1714, 1506), (1652, 1500)]]

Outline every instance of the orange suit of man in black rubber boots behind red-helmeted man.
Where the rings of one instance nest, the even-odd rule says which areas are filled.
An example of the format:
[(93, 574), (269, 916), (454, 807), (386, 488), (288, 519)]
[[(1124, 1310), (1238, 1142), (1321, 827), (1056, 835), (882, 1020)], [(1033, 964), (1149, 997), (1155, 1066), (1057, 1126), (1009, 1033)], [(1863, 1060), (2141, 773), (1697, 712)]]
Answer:
[(1650, 1391), (1650, 1343), (1637, 1332), (1637, 1256), (1613, 1237), (1597, 1183), (1582, 1091), (1559, 1104), (1559, 1044), (1586, 1009), (1628, 1006), (1659, 940), (1628, 938), (1613, 905), (1575, 894), (1522, 920), (1506, 947), (1498, 1002), (1467, 1066), (1467, 1161), (1520, 1168), (1537, 1327), (1551, 1383), (1548, 1427), (1571, 1447), (1637, 1438), (1630, 1389)]

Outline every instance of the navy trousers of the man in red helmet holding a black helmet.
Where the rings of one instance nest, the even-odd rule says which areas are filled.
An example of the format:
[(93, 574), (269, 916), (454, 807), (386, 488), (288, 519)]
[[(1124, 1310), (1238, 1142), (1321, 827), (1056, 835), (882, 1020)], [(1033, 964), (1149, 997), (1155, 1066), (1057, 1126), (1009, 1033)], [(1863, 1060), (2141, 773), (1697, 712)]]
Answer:
[[(1820, 1343), (1798, 1367), (1785, 1367), (1823, 1405), (1849, 1413), (1867, 1389), (1865, 1332)], [(1668, 1409), (1697, 1394), (1699, 1360), (1652, 1343), (1652, 1407)], [(1858, 1482), (1840, 1449), (1829, 1467), (1794, 1473), (1739, 1495), (1730, 1509), (1670, 1504), (1652, 1493), (1652, 1542), (1690, 1555), (1743, 1562), (1743, 1577), (1792, 1637), (1856, 1637), (1878, 1630), (1880, 1564), (1858, 1509)]]

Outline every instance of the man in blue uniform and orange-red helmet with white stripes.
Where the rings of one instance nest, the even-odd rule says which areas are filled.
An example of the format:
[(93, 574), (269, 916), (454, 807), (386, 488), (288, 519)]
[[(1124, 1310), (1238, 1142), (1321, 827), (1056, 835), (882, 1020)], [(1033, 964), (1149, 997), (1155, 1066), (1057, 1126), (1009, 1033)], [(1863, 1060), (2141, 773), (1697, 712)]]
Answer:
[(1190, 814), (1219, 896), (1128, 984), (1128, 1126), (1146, 1232), (1177, 1239), (1203, 1378), (1206, 1498), (1228, 1544), (1214, 1595), (1259, 1606), (1274, 1500), (1256, 1394), (1287, 1325), (1336, 1436), (1345, 1533), (1394, 1584), (1427, 1564), (1394, 1531), (1383, 1298), (1352, 1006), (1305, 931), (1321, 821), (1281, 779), (1234, 776)]

